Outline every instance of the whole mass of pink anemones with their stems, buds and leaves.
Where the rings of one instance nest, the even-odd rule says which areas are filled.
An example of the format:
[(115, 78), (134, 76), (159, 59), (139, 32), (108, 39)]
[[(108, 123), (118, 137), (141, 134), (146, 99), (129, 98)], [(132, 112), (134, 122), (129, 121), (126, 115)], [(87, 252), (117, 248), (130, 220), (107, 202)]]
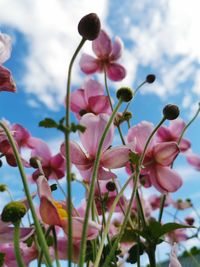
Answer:
[[(144, 84), (154, 82), (155, 75), (147, 75), (136, 90), (119, 88), (114, 105), (107, 79), (115, 82), (126, 76), (126, 69), (118, 63), (122, 41), (117, 37), (112, 43), (94, 13), (80, 20), (78, 31), (82, 39), (69, 64), (66, 114), (59, 121), (45, 118), (39, 123), (41, 127), (56, 128), (63, 133), (59, 152), (52, 155), (48, 145), (31, 136), (22, 125), (0, 121), (0, 157), (9, 166), (18, 167), (25, 193), (25, 199), (18, 201), (11, 196), (11, 202), (1, 213), (1, 265), (27, 266), (37, 259), (38, 266), (41, 263), (53, 266), (54, 260), (57, 266), (60, 260), (79, 267), (85, 264), (125, 266), (126, 263), (140, 266), (143, 255), (147, 255), (150, 266), (154, 267), (157, 246), (166, 242), (172, 247), (169, 266), (178, 267), (174, 243), (198, 237), (198, 229), (194, 227), (190, 237), (186, 230), (193, 227), (193, 217), (187, 216), (182, 223), (176, 214), (166, 222), (163, 213), (169, 206), (176, 211), (193, 207), (189, 200), (172, 198), (171, 193), (183, 183), (173, 163), (182, 153), (189, 164), (200, 169), (200, 157), (183, 137), (200, 108), (188, 123), (178, 118), (179, 108), (174, 104), (163, 108), (156, 126), (147, 121), (132, 123), (129, 105)], [(80, 68), (88, 77), (80, 88), (71, 92), (73, 63), (87, 40), (92, 41), (96, 57), (81, 56)], [(0, 34), (0, 48), (0, 91), (15, 92), (11, 72), (2, 65), (11, 54), (8, 35)], [(105, 85), (91, 76), (95, 72), (103, 73)], [(71, 122), (70, 112), (74, 113), (76, 122)], [(71, 139), (72, 132), (78, 132), (78, 141)], [(117, 132), (121, 141), (115, 146), (113, 138)], [(23, 148), (30, 151), (28, 159), (23, 156)], [(72, 167), (81, 179), (73, 175)], [(115, 172), (121, 168), (127, 177), (123, 185)], [(66, 190), (59, 183), (65, 176)], [(50, 184), (50, 180), (56, 184)], [(80, 182), (85, 188), (85, 199), (79, 207), (73, 203), (74, 182)], [(29, 183), (37, 186), (37, 192), (30, 193)], [(145, 198), (145, 190), (150, 187), (159, 195)], [(127, 188), (130, 195), (125, 191)], [(62, 200), (55, 199), (57, 190), (63, 194)], [(1, 184), (0, 191), (9, 193), (8, 186)], [(33, 202), (36, 195), (38, 208), (34, 204), (38, 202)], [(29, 225), (22, 226), (22, 218), (26, 217)]]

